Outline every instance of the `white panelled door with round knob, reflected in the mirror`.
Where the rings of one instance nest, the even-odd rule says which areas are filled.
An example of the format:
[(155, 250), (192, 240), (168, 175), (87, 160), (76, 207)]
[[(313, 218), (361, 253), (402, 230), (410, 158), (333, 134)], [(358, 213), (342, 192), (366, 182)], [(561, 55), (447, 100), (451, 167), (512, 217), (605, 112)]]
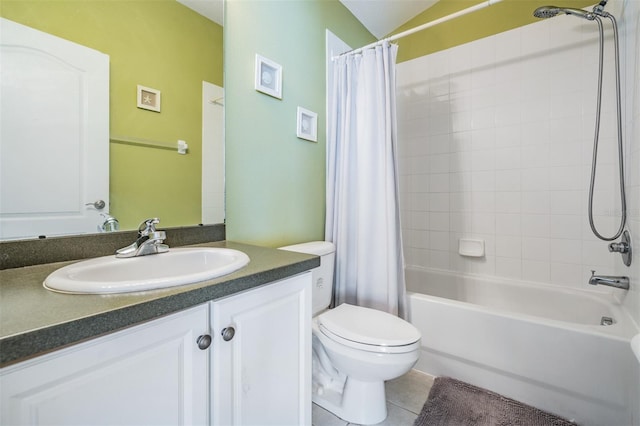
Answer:
[(97, 232), (109, 56), (0, 19), (0, 238)]

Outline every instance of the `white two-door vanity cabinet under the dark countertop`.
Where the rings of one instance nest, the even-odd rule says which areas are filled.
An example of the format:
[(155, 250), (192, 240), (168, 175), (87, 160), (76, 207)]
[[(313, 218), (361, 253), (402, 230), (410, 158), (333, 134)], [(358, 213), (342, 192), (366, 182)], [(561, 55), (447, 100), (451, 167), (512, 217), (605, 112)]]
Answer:
[(307, 272), (2, 368), (0, 424), (311, 424), (310, 292)]

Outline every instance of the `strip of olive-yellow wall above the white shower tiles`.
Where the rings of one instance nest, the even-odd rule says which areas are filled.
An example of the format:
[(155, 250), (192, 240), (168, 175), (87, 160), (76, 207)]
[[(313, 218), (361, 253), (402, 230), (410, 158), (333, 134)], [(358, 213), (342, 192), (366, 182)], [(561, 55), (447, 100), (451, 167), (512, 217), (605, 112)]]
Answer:
[[(409, 20), (391, 34), (415, 28), (434, 19), (442, 18), (476, 4), (478, 0), (440, 0), (415, 18)], [(398, 43), (398, 62), (419, 58), (433, 52), (495, 35), (504, 31), (539, 21), (533, 11), (548, 4), (549, 0), (503, 0), (490, 7), (478, 10), (454, 20), (436, 25), (424, 31), (401, 38)], [(594, 4), (593, 0), (561, 0), (563, 7), (584, 8)]]

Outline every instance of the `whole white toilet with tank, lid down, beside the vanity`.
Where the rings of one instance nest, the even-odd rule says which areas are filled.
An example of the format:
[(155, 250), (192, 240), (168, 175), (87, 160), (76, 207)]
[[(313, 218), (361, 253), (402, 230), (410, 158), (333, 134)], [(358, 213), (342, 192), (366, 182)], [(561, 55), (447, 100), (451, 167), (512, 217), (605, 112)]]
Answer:
[(342, 304), (328, 309), (333, 294), (335, 246), (314, 241), (281, 250), (320, 256), (313, 274), (313, 402), (350, 423), (387, 417), (385, 380), (418, 361), (420, 332), (387, 312)]

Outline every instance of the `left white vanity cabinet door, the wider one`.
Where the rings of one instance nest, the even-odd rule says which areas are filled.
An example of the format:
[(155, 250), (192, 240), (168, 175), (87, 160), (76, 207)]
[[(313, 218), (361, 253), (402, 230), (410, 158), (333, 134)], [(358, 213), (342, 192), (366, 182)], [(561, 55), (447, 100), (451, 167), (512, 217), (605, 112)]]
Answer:
[(0, 370), (3, 425), (208, 422), (207, 304)]

